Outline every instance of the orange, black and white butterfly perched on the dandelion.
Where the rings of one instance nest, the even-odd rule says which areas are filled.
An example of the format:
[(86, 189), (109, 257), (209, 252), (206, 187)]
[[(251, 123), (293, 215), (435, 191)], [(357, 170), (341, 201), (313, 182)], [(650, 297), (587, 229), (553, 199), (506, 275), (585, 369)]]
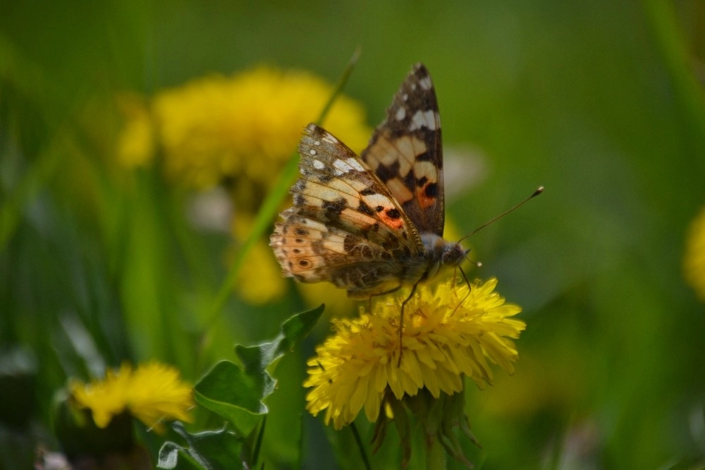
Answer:
[(359, 157), (314, 123), (298, 150), (293, 207), (270, 243), (284, 276), (353, 299), (410, 285), (408, 301), (419, 282), (460, 267), (470, 250), (443, 239), (441, 119), (425, 66), (413, 66)]

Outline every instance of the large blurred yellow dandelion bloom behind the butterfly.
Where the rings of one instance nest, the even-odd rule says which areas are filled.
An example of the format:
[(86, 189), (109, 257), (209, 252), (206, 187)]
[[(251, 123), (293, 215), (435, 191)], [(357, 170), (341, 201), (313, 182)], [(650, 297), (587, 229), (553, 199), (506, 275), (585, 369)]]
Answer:
[[(332, 92), (311, 73), (266, 66), (161, 92), (153, 109), (166, 174), (196, 188), (223, 179), (268, 188)], [(364, 119), (362, 106), (343, 96), (333, 104), (326, 128), (359, 150), (370, 134)], [(254, 196), (250, 202), (258, 201)]]

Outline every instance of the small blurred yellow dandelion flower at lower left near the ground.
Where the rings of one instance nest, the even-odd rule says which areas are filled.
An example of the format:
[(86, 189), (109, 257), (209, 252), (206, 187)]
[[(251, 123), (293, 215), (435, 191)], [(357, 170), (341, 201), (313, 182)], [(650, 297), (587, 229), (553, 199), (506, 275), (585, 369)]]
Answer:
[(90, 409), (99, 428), (127, 411), (159, 432), (163, 420), (191, 421), (188, 410), (194, 406), (191, 386), (180, 380), (178, 370), (156, 361), (135, 370), (123, 363), (108, 370), (104, 380), (72, 380), (69, 389), (79, 408)]

